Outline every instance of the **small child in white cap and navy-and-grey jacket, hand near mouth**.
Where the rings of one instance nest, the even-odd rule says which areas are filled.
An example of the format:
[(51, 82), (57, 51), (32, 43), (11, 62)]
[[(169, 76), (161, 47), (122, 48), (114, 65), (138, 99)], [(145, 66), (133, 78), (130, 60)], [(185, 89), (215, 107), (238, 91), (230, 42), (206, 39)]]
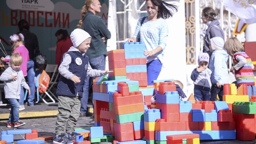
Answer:
[(194, 96), (196, 101), (210, 101), (211, 83), (217, 83), (214, 80), (211, 70), (208, 68), (209, 54), (200, 52), (198, 55), (198, 65), (191, 73), (191, 79), (194, 81)]

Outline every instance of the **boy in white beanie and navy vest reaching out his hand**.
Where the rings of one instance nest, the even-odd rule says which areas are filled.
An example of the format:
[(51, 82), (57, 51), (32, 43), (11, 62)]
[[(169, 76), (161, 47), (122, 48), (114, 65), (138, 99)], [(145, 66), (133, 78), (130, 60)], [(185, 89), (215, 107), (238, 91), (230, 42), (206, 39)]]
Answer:
[(94, 70), (89, 64), (86, 51), (90, 47), (91, 36), (82, 29), (70, 34), (73, 46), (63, 55), (59, 66), (58, 111), (54, 144), (73, 144), (74, 128), (80, 116), (80, 98), (86, 76), (98, 77), (108, 74), (108, 70)]

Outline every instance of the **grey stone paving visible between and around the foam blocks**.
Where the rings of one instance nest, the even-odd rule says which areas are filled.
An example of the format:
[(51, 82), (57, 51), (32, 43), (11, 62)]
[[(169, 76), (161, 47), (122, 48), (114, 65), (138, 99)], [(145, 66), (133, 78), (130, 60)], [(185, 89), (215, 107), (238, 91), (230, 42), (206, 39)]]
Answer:
[[(23, 119), (26, 125), (20, 129), (36, 129), (38, 131), (38, 136), (54, 136), (55, 133), (55, 122), (56, 117), (48, 118), (37, 118), (37, 119)], [(77, 128), (84, 128), (88, 126), (93, 126), (93, 117), (81, 117), (78, 120)], [(13, 130), (13, 128), (6, 128), (6, 121), (0, 121), (0, 130)], [(15, 135), (15, 144), (17, 140), (22, 140), (25, 135)], [(11, 144), (11, 143), (9, 143)], [(52, 144), (52, 141), (45, 142), (45, 144)], [(256, 144), (256, 141), (239, 141), (239, 140), (215, 140), (215, 141), (201, 141), (200, 144)]]

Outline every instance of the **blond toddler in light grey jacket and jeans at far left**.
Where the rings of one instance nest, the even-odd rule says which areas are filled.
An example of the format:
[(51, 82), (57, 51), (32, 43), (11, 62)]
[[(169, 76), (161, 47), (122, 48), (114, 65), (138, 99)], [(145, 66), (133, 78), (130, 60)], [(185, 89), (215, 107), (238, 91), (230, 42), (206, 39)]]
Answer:
[(17, 128), (26, 124), (19, 119), (20, 85), (26, 88), (28, 95), (30, 95), (30, 88), (25, 81), (22, 70), (20, 70), (22, 63), (22, 57), (18, 53), (14, 53), (11, 56), (9, 67), (0, 76), (0, 81), (4, 81), (5, 98), (11, 105), (7, 128)]

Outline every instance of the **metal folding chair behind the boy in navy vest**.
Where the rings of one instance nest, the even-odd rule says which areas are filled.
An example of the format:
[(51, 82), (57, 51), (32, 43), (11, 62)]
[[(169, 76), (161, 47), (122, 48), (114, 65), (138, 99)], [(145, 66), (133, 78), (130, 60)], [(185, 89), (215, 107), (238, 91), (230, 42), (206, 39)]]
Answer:
[(58, 68), (58, 65), (50, 65), (50, 64), (47, 64), (46, 65), (46, 68), (45, 68), (45, 72), (47, 72), (51, 79), (50, 79), (50, 83), (49, 83), (49, 86), (47, 88), (47, 91), (43, 94), (40, 95), (40, 97), (42, 98), (42, 100), (45, 102), (45, 96), (47, 95), (51, 100), (52, 102), (48, 103), (48, 102), (45, 102), (46, 104), (52, 104), (52, 103), (55, 103), (53, 97), (58, 100), (58, 98), (54, 95), (53, 92), (51, 92), (51, 89), (53, 88), (54, 84), (57, 84), (57, 79), (58, 79), (58, 76), (59, 76), (59, 72), (57, 71), (57, 68)]

